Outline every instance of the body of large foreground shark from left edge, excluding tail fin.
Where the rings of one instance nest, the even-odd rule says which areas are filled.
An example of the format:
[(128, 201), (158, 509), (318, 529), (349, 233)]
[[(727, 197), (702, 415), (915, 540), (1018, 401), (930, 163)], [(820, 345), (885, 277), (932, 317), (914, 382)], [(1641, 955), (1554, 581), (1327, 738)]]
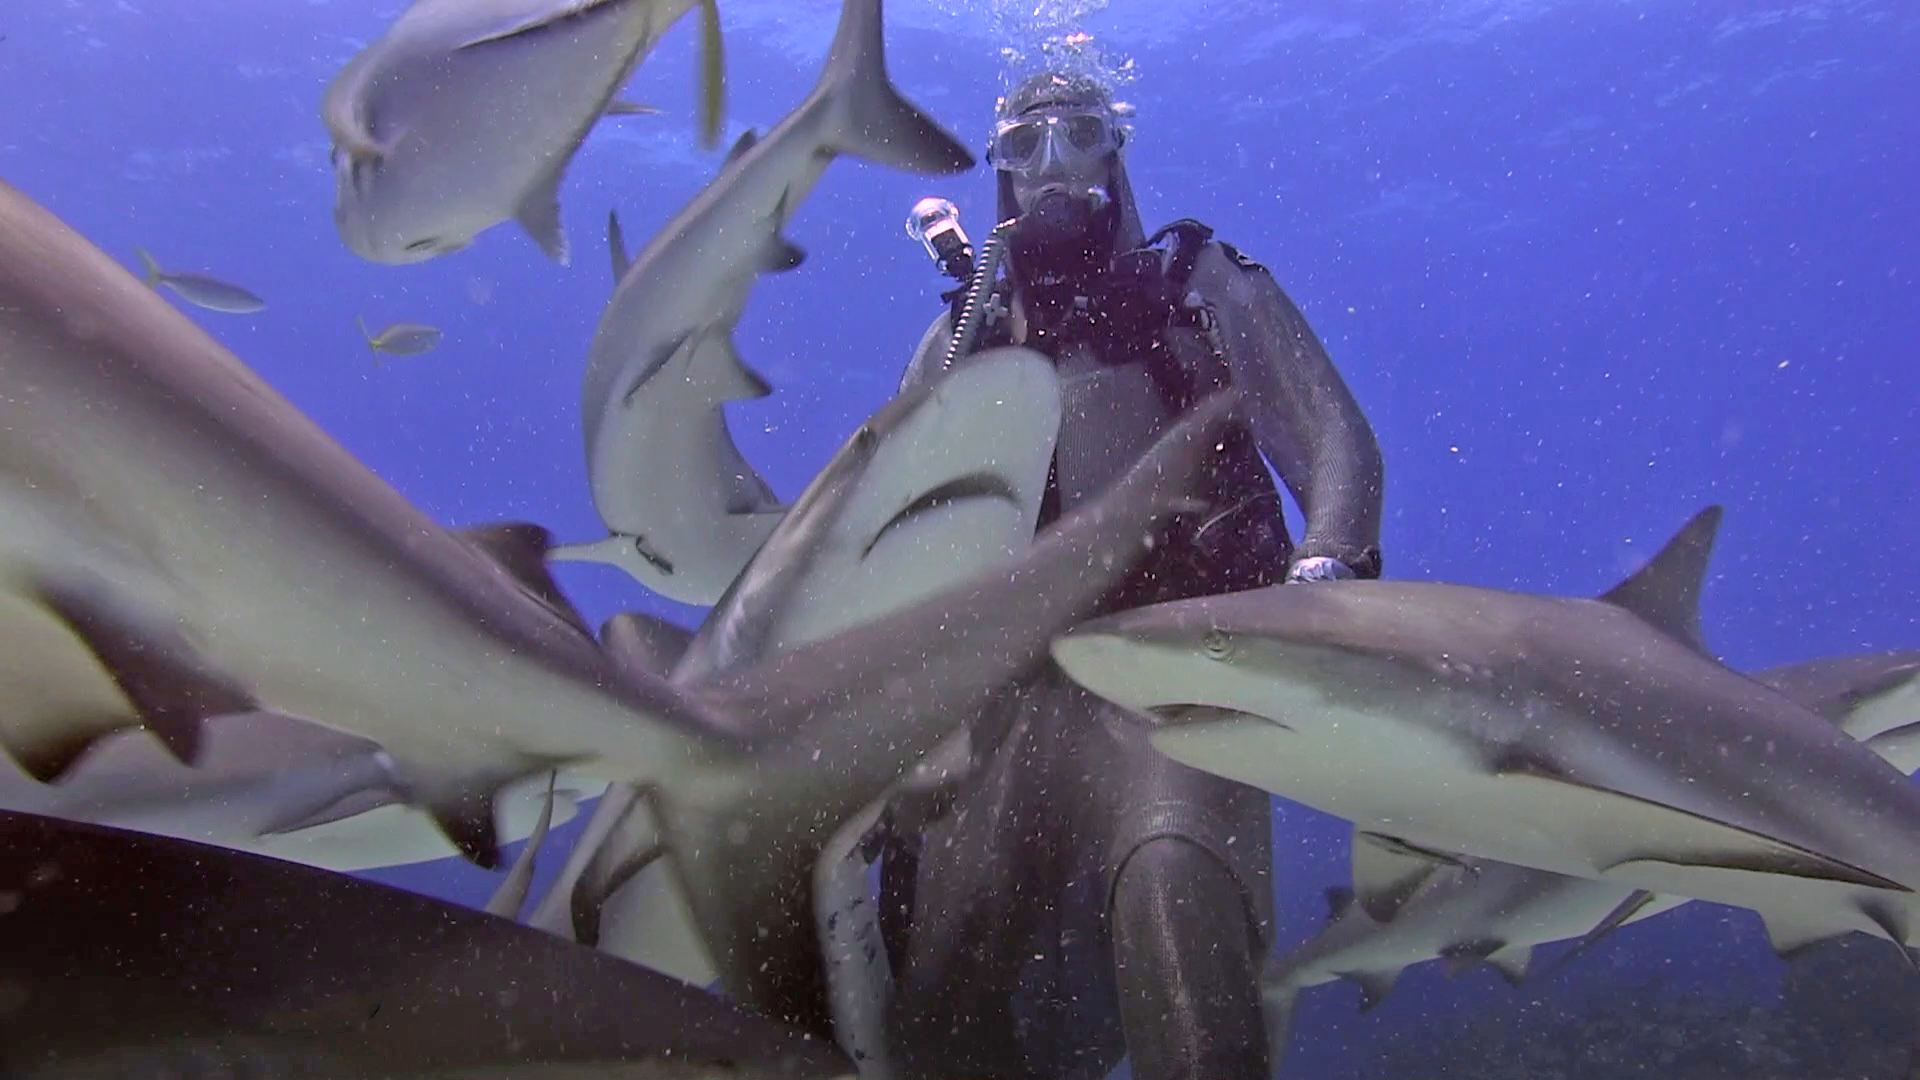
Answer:
[(645, 784), (747, 744), (614, 669), (545, 530), (440, 528), (8, 186), (0, 379), (0, 686), (25, 688), (0, 742), (36, 778), (121, 726), (192, 761), (202, 719), (275, 711), (378, 744), (405, 801), (492, 865), (503, 784)]

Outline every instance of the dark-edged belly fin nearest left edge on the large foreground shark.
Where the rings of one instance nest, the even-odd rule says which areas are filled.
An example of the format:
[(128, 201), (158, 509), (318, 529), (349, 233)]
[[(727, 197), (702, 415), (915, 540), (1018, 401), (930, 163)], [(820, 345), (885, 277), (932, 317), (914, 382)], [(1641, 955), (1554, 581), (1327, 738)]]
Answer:
[[(177, 625), (134, 611), (117, 601), (108, 586), (75, 577), (42, 577), (35, 592), (94, 653), (140, 723), (184, 765), (200, 757), (200, 721), (259, 707), (238, 682), (207, 663)], [(42, 776), (56, 763), (65, 769), (73, 757), (69, 751), (48, 753), (38, 763), (23, 765)]]

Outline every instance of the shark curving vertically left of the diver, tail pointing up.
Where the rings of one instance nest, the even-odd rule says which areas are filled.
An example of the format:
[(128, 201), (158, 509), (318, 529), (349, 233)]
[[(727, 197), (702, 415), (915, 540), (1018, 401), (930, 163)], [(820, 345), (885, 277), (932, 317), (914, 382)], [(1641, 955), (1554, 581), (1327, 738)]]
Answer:
[(620, 277), (593, 332), (580, 394), (601, 542), (555, 557), (622, 567), (684, 603), (714, 603), (778, 521), (741, 469), (720, 409), (760, 398), (733, 327), (766, 271), (799, 265), (787, 221), (851, 154), (924, 175), (973, 156), (887, 77), (881, 0), (845, 0), (814, 90), (764, 138), (743, 136), (720, 175)]

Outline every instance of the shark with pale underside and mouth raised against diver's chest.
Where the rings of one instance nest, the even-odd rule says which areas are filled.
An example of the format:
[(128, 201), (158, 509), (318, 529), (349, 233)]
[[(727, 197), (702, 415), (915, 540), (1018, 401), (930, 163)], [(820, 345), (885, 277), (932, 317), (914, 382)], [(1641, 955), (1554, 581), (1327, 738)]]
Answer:
[[(822, 469), (697, 632), (626, 613), (601, 640), (634, 667), (689, 686), (962, 584), (1033, 542), (1058, 429), (1050, 365), (1021, 352), (983, 357), (937, 392), (876, 413), (872, 446), (851, 446)], [(651, 863), (659, 851), (649, 807), (612, 786), (530, 922), (710, 978), (703, 947), (689, 947), (670, 915), (684, 909), (678, 899), (630, 897), (603, 915), (622, 888), (662, 896), (672, 869)]]

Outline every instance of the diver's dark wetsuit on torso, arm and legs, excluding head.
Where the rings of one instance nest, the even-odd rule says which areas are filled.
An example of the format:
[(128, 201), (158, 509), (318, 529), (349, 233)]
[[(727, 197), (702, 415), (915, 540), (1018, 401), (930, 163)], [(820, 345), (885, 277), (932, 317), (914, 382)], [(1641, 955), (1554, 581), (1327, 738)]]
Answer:
[[(1309, 555), (1377, 577), (1379, 448), (1306, 319), (1223, 244), (1200, 250), (1188, 284), (1212, 311), (1210, 338), (1175, 329), (1156, 344), (1158, 317), (1116, 317), (1023, 342), (1062, 375), (1043, 525), (1131, 465), (1181, 398), (1231, 380), (1248, 423), (1198, 492), (1217, 513), (1177, 532), (1108, 609), (1275, 584)], [(904, 382), (941, 363), (948, 319)], [(1298, 548), (1256, 448), (1302, 503)], [(883, 861), (902, 1074), (1098, 1078), (1131, 1049), (1139, 1080), (1265, 1076), (1269, 798), (1156, 753), (1139, 721), (1052, 663), (1008, 688), (973, 738), (977, 769), (952, 809), (895, 838)]]

